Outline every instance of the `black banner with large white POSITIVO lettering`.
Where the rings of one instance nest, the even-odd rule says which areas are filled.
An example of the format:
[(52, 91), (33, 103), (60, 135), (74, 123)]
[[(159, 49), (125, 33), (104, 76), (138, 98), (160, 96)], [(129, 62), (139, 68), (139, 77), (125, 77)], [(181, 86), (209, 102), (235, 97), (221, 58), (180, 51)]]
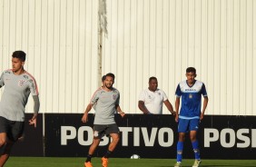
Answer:
[[(93, 142), (94, 114), (89, 122), (82, 123), (83, 114), (45, 114), (45, 155), (85, 157)], [(169, 114), (126, 114), (122, 119), (115, 115), (121, 130), (121, 139), (113, 157), (176, 158), (178, 140), (177, 123)], [(205, 115), (198, 132), (202, 159), (254, 159), (256, 153), (255, 116)], [(109, 137), (104, 136), (94, 156), (106, 152)], [(183, 158), (192, 159), (189, 134), (184, 143)]]

